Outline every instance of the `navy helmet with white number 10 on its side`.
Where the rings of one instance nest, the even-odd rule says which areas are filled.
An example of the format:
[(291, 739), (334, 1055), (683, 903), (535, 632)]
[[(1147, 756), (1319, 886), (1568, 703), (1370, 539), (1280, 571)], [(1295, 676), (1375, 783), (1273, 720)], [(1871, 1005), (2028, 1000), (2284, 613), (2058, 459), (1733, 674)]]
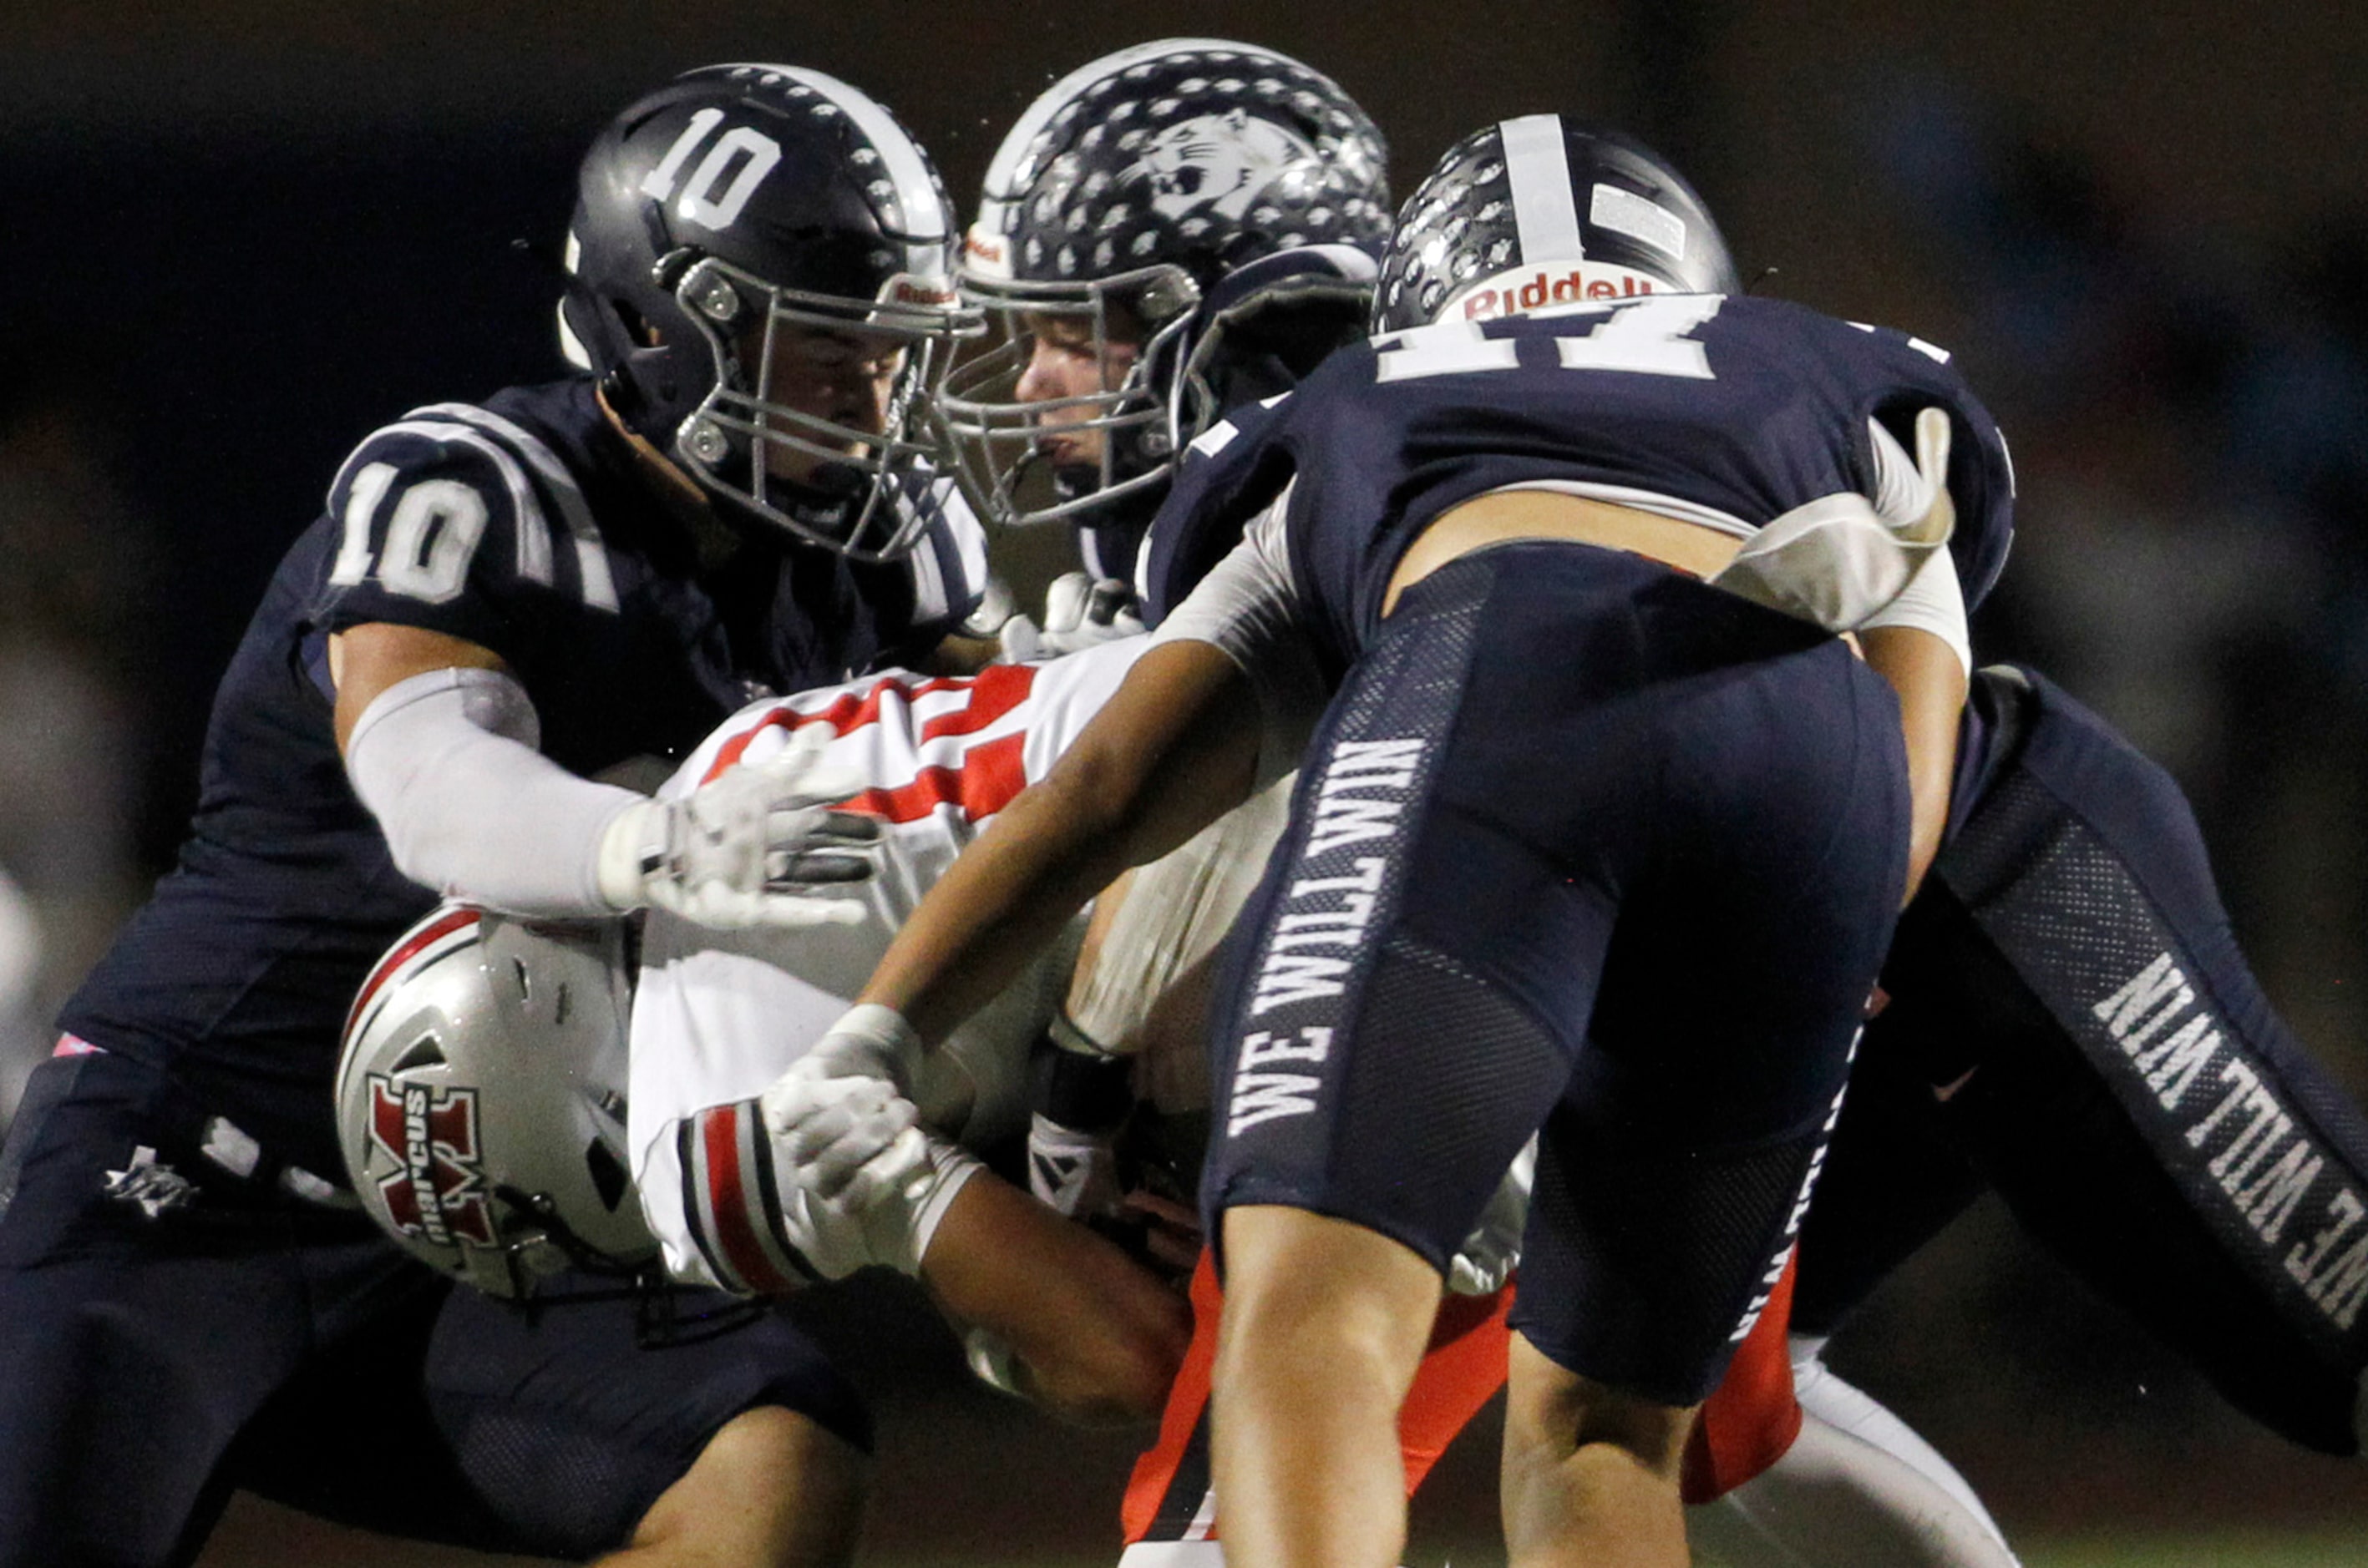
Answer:
[(706, 66), (585, 154), (559, 336), (623, 424), (727, 516), (893, 559), (950, 341), (954, 223), (874, 99), (798, 66)]

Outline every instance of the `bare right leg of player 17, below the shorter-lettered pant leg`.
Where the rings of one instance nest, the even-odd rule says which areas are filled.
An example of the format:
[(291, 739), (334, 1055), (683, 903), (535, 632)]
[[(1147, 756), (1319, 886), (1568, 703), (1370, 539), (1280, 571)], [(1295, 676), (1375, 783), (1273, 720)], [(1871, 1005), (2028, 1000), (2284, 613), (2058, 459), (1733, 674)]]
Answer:
[(1686, 1568), (1679, 1464), (1695, 1407), (1655, 1405), (1506, 1350), (1504, 1540), (1516, 1568)]

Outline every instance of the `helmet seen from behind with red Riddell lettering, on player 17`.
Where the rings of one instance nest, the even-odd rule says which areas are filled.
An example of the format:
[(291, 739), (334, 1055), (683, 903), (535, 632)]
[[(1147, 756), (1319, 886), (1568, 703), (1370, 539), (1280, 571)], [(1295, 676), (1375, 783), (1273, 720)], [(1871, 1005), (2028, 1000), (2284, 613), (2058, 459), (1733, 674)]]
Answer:
[(1710, 208), (1615, 130), (1527, 114), (1471, 133), (1407, 197), (1373, 332), (1639, 294), (1738, 294)]

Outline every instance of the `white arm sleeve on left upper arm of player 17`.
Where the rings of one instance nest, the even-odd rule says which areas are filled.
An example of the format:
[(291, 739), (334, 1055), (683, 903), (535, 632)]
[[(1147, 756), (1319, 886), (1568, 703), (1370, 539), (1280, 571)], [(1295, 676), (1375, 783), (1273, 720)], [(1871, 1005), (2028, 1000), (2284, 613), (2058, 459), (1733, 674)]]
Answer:
[(1265, 720), (1257, 744), (1260, 786), (1300, 765), (1307, 737), (1331, 701), (1314, 649), (1300, 630), (1300, 592), (1283, 538), (1288, 505), (1286, 486), (1243, 531), (1234, 552), (1151, 632), (1151, 647), (1210, 642), (1250, 677)]

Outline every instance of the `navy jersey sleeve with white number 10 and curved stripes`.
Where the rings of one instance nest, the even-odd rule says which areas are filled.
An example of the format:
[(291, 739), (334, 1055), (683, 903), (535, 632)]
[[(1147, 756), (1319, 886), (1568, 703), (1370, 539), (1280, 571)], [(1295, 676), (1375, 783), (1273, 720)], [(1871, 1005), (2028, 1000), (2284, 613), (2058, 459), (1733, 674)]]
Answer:
[(616, 616), (599, 526), (526, 429), (445, 403), (374, 431), (329, 486), (339, 547), (313, 621), (462, 637), (519, 661), (554, 613)]

